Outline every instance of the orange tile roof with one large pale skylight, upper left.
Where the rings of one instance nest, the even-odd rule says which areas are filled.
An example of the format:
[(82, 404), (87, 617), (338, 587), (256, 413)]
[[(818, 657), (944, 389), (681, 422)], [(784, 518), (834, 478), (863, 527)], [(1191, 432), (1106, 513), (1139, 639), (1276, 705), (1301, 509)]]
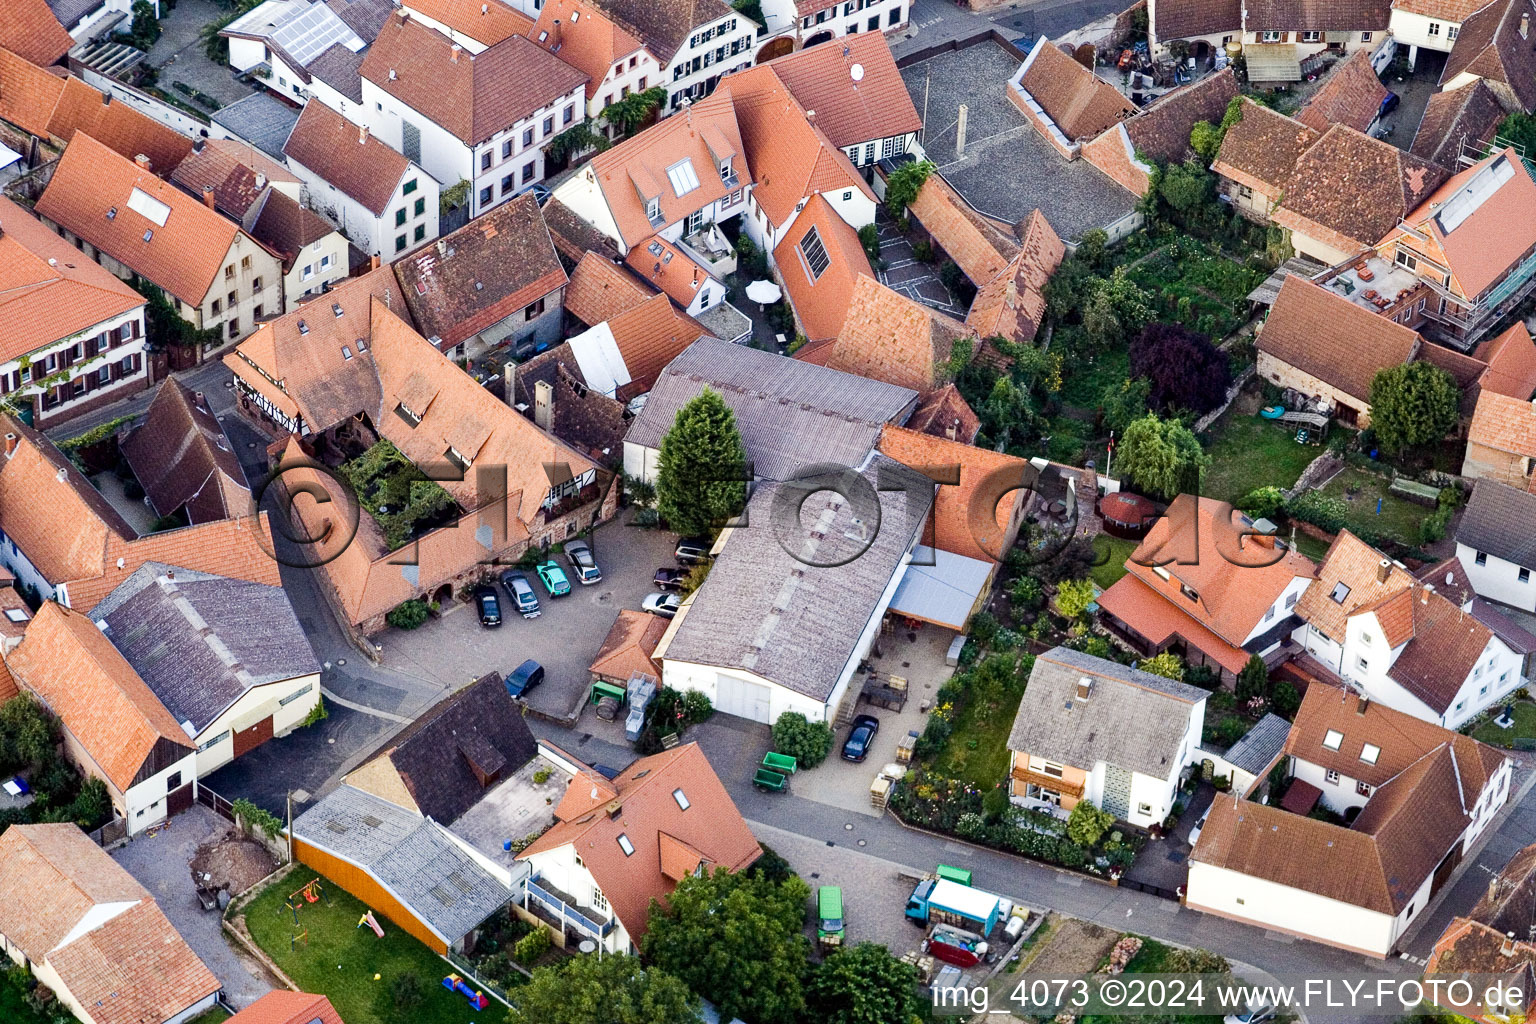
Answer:
[[(164, 223), (132, 209), (135, 195), (169, 207)], [(244, 233), (235, 221), (83, 134), (65, 149), (37, 212), (190, 306), (203, 304)]]

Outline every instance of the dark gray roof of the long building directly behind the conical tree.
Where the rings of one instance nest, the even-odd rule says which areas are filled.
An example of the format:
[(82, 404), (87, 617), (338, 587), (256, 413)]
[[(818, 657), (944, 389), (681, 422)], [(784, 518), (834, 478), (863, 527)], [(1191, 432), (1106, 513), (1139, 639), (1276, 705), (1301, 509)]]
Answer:
[(736, 413), (753, 473), (768, 481), (819, 462), (860, 465), (880, 427), (917, 407), (905, 387), (700, 338), (662, 370), (625, 441), (659, 448), (677, 410), (705, 387)]

